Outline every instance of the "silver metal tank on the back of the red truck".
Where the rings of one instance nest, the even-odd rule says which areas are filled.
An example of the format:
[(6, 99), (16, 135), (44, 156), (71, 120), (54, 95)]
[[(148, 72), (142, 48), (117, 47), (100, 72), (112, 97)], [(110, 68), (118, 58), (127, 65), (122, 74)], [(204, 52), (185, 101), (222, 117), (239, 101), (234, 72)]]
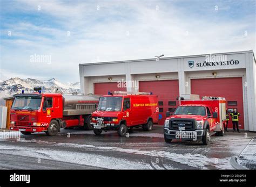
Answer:
[(63, 116), (91, 114), (98, 102), (97, 95), (63, 95)]

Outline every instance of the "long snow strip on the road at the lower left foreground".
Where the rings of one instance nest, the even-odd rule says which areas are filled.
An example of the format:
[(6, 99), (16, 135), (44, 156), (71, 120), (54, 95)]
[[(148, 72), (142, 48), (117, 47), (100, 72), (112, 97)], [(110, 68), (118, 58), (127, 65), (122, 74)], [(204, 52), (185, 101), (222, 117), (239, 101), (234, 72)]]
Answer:
[(125, 159), (117, 159), (110, 156), (102, 156), (87, 153), (69, 152), (52, 149), (35, 149), (30, 147), (1, 146), (1, 153), (30, 156), (40, 159), (52, 159), (62, 162), (84, 164), (87, 166), (102, 167), (108, 169), (152, 169), (144, 162), (131, 162)]

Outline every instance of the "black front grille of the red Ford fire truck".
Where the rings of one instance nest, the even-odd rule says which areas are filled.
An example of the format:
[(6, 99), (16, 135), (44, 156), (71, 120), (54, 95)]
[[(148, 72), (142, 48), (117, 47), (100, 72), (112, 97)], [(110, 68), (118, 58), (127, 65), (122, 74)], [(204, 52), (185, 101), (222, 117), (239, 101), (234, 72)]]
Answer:
[(170, 130), (179, 130), (179, 126), (185, 126), (185, 131), (195, 130), (195, 120), (191, 119), (174, 119), (170, 121)]

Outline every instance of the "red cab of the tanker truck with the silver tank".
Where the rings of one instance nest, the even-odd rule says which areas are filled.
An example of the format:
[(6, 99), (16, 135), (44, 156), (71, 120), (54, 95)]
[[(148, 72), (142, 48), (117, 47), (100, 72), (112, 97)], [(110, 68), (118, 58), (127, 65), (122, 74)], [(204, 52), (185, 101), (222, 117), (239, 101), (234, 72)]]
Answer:
[[(10, 130), (23, 134), (47, 132), (51, 119), (62, 118), (62, 109), (62, 95), (59, 93), (17, 94), (10, 111)], [(59, 129), (59, 124), (52, 124), (49, 133)]]

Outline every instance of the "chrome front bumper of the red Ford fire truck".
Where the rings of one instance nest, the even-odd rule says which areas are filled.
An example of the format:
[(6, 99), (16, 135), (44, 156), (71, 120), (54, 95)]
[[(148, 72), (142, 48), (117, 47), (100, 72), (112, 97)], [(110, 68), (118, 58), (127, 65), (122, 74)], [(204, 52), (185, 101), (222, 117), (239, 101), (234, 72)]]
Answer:
[(204, 129), (194, 131), (177, 131), (164, 128), (164, 135), (167, 139), (201, 140), (204, 134)]

